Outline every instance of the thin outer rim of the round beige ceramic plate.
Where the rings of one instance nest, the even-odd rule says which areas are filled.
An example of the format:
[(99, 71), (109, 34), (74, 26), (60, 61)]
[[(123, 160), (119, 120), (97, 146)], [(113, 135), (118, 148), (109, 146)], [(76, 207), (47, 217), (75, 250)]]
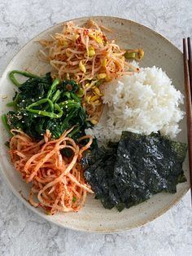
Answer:
[[(146, 26), (146, 25), (144, 25), (144, 24), (141, 24), (141, 23), (138, 23), (138, 22), (136, 22), (136, 21), (134, 21), (134, 20), (129, 20), (129, 19), (125, 19), (125, 18), (122, 18), (122, 17), (119, 17), (119, 16), (113, 16), (113, 15), (89, 15), (89, 16), (81, 16), (81, 17), (76, 17), (76, 18), (70, 19), (70, 20), (63, 20), (63, 21), (61, 21), (61, 22), (59, 22), (59, 23), (56, 23), (56, 24), (54, 24), (54, 25), (51, 25), (50, 27), (48, 27), (48, 28), (42, 30), (40, 33), (37, 33), (35, 36), (33, 36), (33, 38), (31, 38), (30, 40), (28, 40), (28, 42), (24, 43), (23, 46), (20, 46), (20, 49), (15, 53), (15, 55), (13, 55), (13, 56), (11, 57), (11, 60), (9, 60), (8, 64), (6, 65), (6, 67), (3, 68), (3, 70), (1, 71), (1, 73), (0, 73), (0, 79), (5, 75), (8, 66), (11, 64), (11, 62), (14, 61), (16, 55), (18, 55), (18, 54), (20, 53), (20, 51), (22, 51), (22, 50), (24, 49), (24, 47), (27, 46), (30, 42), (33, 42), (34, 38), (37, 38), (37, 37), (41, 36), (41, 33), (46, 33), (46, 31), (49, 31), (50, 29), (54, 29), (54, 28), (56, 28), (56, 27), (59, 27), (59, 26), (61, 26), (62, 24), (65, 24), (65, 23), (68, 22), (68, 21), (74, 21), (74, 20), (76, 20), (76, 22), (78, 22), (78, 20), (81, 20), (81, 19), (87, 19), (87, 20), (89, 20), (89, 19), (91, 19), (91, 18), (98, 18), (98, 19), (103, 19), (103, 18), (109, 18), (109, 19), (111, 19), (111, 18), (112, 18), (112, 19), (117, 19), (117, 20), (121, 20), (121, 21), (124, 21), (124, 22), (128, 22), (128, 21), (129, 21), (130, 23), (136, 24), (136, 25), (138, 25), (138, 26), (141, 26), (141, 27), (144, 28), (144, 29), (149, 29), (149, 30), (151, 31), (151, 33), (155, 33), (155, 35), (156, 35), (157, 37), (160, 37), (160, 38), (163, 39), (165, 42), (171, 44), (171, 45), (175, 48), (175, 50), (176, 50), (179, 54), (182, 55), (181, 50), (180, 50), (177, 46), (175, 46), (171, 41), (169, 41), (168, 38), (164, 37), (164, 35), (162, 35), (161, 33), (158, 33), (158, 32), (155, 31), (154, 29), (151, 29), (151, 28), (149, 28), (148, 26)], [(10, 180), (7, 179), (7, 176), (6, 176), (6, 174), (5, 174), (5, 171), (3, 171), (2, 168), (0, 168), (0, 173), (1, 173), (1, 176), (2, 176), (3, 180), (6, 181), (7, 187), (10, 188), (11, 192), (12, 192), (22, 203), (24, 203), (24, 205), (25, 205), (29, 210), (32, 210), (33, 213), (37, 214), (37, 215), (40, 216), (41, 218), (46, 219), (46, 221), (49, 221), (50, 223), (53, 223), (53, 224), (55, 224), (55, 225), (57, 225), (57, 226), (59, 226), (59, 227), (71, 229), (71, 230), (76, 231), (76, 232), (85, 232), (85, 233), (90, 233), (90, 232), (91, 232), (91, 233), (110, 234), (110, 233), (117, 233), (117, 232), (118, 232), (118, 233), (119, 233), (119, 232), (129, 232), (129, 231), (131, 231), (131, 230), (133, 230), (133, 229), (135, 229), (135, 228), (137, 228), (137, 227), (142, 227), (142, 226), (146, 225), (147, 223), (153, 222), (156, 218), (159, 218), (161, 215), (163, 215), (164, 213), (166, 213), (168, 210), (172, 209), (172, 207), (173, 207), (174, 205), (177, 205), (177, 203), (178, 203), (179, 201), (181, 201), (182, 197), (185, 196), (185, 194), (190, 190), (190, 187), (183, 189), (183, 191), (181, 192), (181, 195), (180, 195), (179, 197), (177, 197), (175, 200), (173, 200), (172, 203), (170, 203), (167, 207), (164, 207), (164, 208), (162, 208), (162, 210), (159, 210), (159, 212), (158, 212), (157, 214), (153, 214), (153, 215), (151, 216), (151, 218), (147, 219), (147, 221), (143, 221), (143, 222), (141, 222), (141, 223), (135, 224), (134, 227), (127, 227), (127, 228), (125, 227), (124, 229), (122, 229), (122, 228), (121, 228), (121, 229), (116, 228), (116, 230), (114, 230), (114, 229), (111, 228), (111, 229), (108, 229), (107, 231), (104, 231), (104, 230), (103, 230), (103, 231), (97, 231), (97, 230), (85, 229), (85, 228), (83, 228), (83, 227), (82, 227), (81, 229), (80, 229), (80, 228), (77, 228), (77, 227), (66, 227), (66, 226), (64, 226), (63, 224), (58, 223), (58, 222), (55, 222), (54, 220), (48, 218), (46, 214), (43, 214), (43, 213), (41, 213), (40, 211), (37, 211), (36, 208), (34, 208), (32, 205), (30, 205), (30, 204), (28, 203), (28, 201), (26, 201), (26, 199), (22, 196), (22, 194), (21, 194), (20, 192), (17, 192), (17, 191), (15, 190), (15, 188), (13, 188), (13, 186), (12, 186)]]

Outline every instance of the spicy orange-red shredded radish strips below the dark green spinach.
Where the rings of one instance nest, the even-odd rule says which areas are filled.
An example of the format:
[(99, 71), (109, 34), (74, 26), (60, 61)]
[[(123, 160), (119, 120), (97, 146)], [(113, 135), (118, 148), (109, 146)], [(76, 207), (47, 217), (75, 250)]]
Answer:
[[(85, 182), (80, 164), (82, 153), (93, 139), (89, 135), (81, 137), (79, 143), (89, 140), (81, 147), (68, 137), (72, 129), (55, 140), (50, 139), (50, 132), (46, 130), (44, 139), (39, 142), (21, 130), (11, 130), (11, 161), (23, 179), (33, 184), (28, 201), (35, 207), (43, 207), (49, 214), (78, 211), (85, 203), (87, 192), (93, 193)], [(72, 157), (64, 157), (64, 149), (70, 149)]]

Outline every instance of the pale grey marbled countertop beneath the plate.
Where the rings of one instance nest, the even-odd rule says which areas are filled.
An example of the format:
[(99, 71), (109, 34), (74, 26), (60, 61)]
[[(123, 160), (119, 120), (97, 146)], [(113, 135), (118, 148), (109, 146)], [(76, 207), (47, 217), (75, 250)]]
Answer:
[[(191, 0), (1, 0), (0, 73), (20, 47), (63, 20), (115, 15), (145, 24), (181, 49), (192, 36)], [(144, 227), (112, 235), (74, 232), (28, 210), (0, 177), (0, 255), (182, 255), (192, 252), (190, 192)]]

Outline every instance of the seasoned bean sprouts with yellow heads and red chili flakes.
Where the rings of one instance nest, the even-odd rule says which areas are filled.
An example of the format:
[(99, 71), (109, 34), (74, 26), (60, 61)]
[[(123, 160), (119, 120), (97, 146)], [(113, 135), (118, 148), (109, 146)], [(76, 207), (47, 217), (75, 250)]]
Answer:
[(40, 40), (41, 60), (55, 68), (55, 77), (74, 79), (81, 86), (82, 104), (94, 125), (102, 113), (102, 93), (99, 86), (123, 74), (137, 72), (125, 60), (126, 51), (121, 50), (114, 40), (107, 39), (103, 28), (93, 20), (85, 27), (68, 22), (61, 33), (50, 40)]

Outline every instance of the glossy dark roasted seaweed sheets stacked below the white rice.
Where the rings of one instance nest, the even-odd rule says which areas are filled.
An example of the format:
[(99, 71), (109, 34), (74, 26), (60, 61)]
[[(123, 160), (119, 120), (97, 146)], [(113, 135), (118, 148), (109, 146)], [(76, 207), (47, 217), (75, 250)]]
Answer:
[(118, 210), (146, 201), (159, 192), (177, 192), (184, 182), (185, 143), (159, 133), (137, 135), (124, 131), (119, 143), (94, 148), (85, 155), (85, 179), (105, 208)]

